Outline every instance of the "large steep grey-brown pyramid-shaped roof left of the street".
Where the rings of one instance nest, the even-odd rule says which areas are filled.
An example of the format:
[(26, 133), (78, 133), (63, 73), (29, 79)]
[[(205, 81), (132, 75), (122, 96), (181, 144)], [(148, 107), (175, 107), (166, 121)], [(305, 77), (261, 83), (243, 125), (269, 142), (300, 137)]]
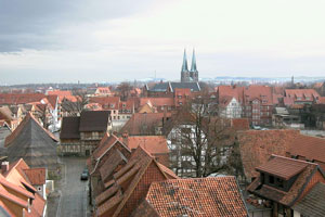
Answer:
[(31, 167), (47, 167), (57, 163), (56, 141), (31, 114), (27, 114), (20, 126), (5, 138), (4, 145), (10, 161), (24, 158)]

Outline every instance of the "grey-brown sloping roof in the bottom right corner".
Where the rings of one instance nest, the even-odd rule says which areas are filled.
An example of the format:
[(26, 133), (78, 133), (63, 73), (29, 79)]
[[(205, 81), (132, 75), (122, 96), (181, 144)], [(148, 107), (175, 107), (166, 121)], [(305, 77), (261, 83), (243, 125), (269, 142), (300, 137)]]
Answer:
[(292, 207), (303, 216), (325, 216), (325, 183), (316, 183), (301, 201)]

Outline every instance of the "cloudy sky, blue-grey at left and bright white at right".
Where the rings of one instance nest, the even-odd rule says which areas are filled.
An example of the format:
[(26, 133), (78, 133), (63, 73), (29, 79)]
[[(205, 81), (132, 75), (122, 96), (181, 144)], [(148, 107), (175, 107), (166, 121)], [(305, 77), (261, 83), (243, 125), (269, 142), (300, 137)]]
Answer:
[(0, 0), (0, 85), (325, 75), (324, 0)]

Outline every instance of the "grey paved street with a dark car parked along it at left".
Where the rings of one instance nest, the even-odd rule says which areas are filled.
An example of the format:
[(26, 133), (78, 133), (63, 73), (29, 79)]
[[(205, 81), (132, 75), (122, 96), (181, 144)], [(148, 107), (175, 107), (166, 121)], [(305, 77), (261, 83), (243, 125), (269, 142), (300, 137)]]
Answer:
[(81, 181), (80, 175), (86, 167), (86, 158), (62, 157), (65, 164), (65, 178), (61, 190), (57, 217), (86, 217), (88, 181)]

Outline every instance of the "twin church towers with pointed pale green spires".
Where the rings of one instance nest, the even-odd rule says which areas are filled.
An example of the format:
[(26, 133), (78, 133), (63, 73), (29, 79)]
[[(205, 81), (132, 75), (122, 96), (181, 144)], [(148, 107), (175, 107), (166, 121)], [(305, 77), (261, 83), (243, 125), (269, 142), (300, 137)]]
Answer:
[(196, 68), (195, 51), (193, 49), (191, 71), (187, 67), (186, 50), (184, 50), (183, 65), (181, 71), (181, 82), (198, 82), (198, 71)]

